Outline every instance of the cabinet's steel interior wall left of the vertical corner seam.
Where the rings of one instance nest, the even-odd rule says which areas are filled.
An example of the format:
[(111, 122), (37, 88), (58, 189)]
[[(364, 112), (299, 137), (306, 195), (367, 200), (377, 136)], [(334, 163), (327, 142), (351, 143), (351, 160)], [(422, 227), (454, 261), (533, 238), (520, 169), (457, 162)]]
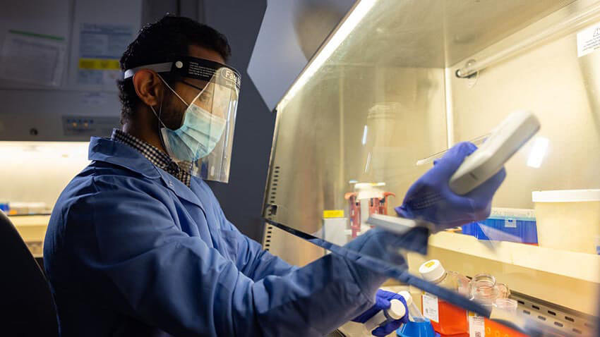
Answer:
[[(268, 203), (272, 219), (321, 234), (323, 210), (344, 209), (350, 180), (385, 182), (400, 197), (426, 168), (416, 161), (446, 146), (443, 70), (339, 67), (325, 69), (278, 111), (277, 144)], [(389, 114), (375, 116), (380, 106)], [(363, 144), (365, 125), (371, 128)], [(276, 183), (276, 185), (275, 185)], [(269, 214), (266, 214), (269, 215)], [(291, 235), (272, 230), (272, 250), (295, 264), (323, 254)], [(284, 247), (279, 250), (277, 247)]]

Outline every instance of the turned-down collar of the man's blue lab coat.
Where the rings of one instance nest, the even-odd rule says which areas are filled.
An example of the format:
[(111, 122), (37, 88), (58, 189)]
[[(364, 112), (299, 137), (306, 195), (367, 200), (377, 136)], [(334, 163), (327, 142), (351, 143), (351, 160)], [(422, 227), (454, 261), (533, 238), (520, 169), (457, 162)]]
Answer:
[(160, 178), (163, 185), (172, 190), (177, 197), (196, 204), (204, 210), (203, 204), (190, 188), (166, 171), (158, 169), (143, 154), (133, 149), (133, 147), (107, 138), (92, 137), (88, 150), (88, 159), (105, 161), (116, 166), (121, 166), (140, 173), (146, 178)]

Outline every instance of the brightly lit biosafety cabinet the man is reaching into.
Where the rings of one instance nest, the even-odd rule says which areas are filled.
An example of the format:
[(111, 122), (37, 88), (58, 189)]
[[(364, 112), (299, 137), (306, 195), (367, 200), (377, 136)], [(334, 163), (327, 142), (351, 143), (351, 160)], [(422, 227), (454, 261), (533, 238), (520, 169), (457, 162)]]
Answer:
[(356, 1), (277, 104), (263, 244), (295, 264), (342, 247), (449, 147), (531, 111), (541, 128), (505, 164), (490, 217), (431, 235), (397, 269), (489, 274), (520, 317), (592, 336), (599, 49), (600, 1)]

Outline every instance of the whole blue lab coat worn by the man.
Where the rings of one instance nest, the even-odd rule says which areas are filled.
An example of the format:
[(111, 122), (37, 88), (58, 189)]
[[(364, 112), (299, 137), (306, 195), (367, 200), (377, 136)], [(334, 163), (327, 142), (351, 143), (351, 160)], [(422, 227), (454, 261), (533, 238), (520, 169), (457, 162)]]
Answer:
[(104, 138), (89, 159), (44, 243), (62, 336), (321, 336), (373, 305), (381, 278), (332, 255), (303, 268), (274, 257), (203, 180), (188, 188)]

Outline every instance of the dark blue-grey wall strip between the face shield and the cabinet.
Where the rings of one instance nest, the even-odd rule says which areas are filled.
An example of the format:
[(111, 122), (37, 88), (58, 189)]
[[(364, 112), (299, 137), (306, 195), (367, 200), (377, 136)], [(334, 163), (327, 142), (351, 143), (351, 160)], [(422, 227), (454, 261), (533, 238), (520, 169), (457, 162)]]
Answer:
[(267, 9), (266, 1), (204, 1), (206, 23), (222, 32), (232, 46), (229, 64), (241, 73), (232, 166), (229, 183), (209, 182), (227, 219), (260, 242), (265, 183), (275, 127), (268, 109), (247, 73), (254, 43)]

